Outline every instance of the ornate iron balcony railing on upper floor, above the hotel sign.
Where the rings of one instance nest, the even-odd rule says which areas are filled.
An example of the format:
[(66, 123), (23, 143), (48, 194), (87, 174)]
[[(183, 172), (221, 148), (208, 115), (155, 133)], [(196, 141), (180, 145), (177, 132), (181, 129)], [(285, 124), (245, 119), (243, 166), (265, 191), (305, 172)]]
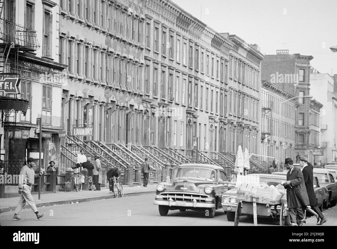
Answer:
[(0, 40), (14, 43), (21, 51), (36, 51), (40, 44), (36, 38), (36, 31), (0, 18)]

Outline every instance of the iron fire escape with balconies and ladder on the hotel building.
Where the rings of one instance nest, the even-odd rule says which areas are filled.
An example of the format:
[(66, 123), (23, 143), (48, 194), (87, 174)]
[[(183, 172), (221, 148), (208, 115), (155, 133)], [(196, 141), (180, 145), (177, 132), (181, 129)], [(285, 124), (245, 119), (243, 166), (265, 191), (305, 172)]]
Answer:
[[(5, 79), (18, 79), (17, 90), (6, 92), (0, 91), (0, 112), (1, 122), (16, 124), (17, 112), (26, 114), (29, 101), (21, 99), (19, 90), (20, 72), (18, 70), (19, 52), (36, 51), (40, 45), (36, 38), (36, 31), (22, 27), (7, 20), (2, 16), (4, 1), (0, 0), (0, 82)], [(15, 14), (15, 13), (13, 13)], [(14, 115), (14, 116), (13, 116)], [(9, 116), (13, 118), (8, 119)]]

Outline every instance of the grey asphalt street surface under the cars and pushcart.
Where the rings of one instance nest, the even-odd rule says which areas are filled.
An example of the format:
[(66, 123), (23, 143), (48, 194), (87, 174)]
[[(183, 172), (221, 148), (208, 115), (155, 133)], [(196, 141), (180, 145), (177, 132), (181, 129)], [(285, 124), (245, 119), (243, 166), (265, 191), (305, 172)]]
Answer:
[[(158, 206), (153, 204), (154, 194), (126, 196), (83, 203), (40, 207), (45, 212), (37, 220), (31, 209), (24, 209), (21, 216), (25, 220), (12, 220), (14, 211), (0, 214), (1, 226), (233, 226), (227, 221), (222, 209), (216, 210), (214, 218), (205, 217), (205, 213), (187, 210), (169, 211), (160, 216)], [(325, 209), (326, 226), (337, 226), (337, 206)], [(242, 216), (239, 226), (253, 226), (253, 218)], [(270, 218), (258, 218), (258, 226), (278, 226), (278, 221)], [(305, 226), (316, 226), (316, 218), (309, 217)]]

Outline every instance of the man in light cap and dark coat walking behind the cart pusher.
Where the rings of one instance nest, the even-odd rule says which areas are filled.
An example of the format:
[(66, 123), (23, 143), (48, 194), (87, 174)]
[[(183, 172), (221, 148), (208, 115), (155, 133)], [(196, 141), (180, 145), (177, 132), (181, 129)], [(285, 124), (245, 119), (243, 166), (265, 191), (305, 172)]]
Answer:
[(307, 157), (301, 156), (299, 160), (300, 166), (303, 167), (302, 169), (303, 180), (305, 183), (305, 187), (307, 189), (310, 207), (318, 214), (317, 223), (320, 218), (320, 223), (317, 225), (323, 225), (323, 223), (327, 222), (328, 220), (324, 217), (323, 213), (317, 207), (317, 199), (313, 186), (312, 168), (308, 165)]

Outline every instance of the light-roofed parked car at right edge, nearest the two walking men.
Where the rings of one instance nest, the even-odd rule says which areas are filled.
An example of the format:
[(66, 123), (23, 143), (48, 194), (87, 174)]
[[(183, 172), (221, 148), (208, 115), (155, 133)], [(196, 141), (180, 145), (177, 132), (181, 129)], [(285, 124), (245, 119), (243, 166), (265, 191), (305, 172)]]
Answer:
[(335, 206), (337, 200), (337, 183), (334, 180), (332, 172), (325, 168), (314, 168), (313, 173), (314, 176), (317, 177), (319, 184), (327, 187), (330, 205)]

